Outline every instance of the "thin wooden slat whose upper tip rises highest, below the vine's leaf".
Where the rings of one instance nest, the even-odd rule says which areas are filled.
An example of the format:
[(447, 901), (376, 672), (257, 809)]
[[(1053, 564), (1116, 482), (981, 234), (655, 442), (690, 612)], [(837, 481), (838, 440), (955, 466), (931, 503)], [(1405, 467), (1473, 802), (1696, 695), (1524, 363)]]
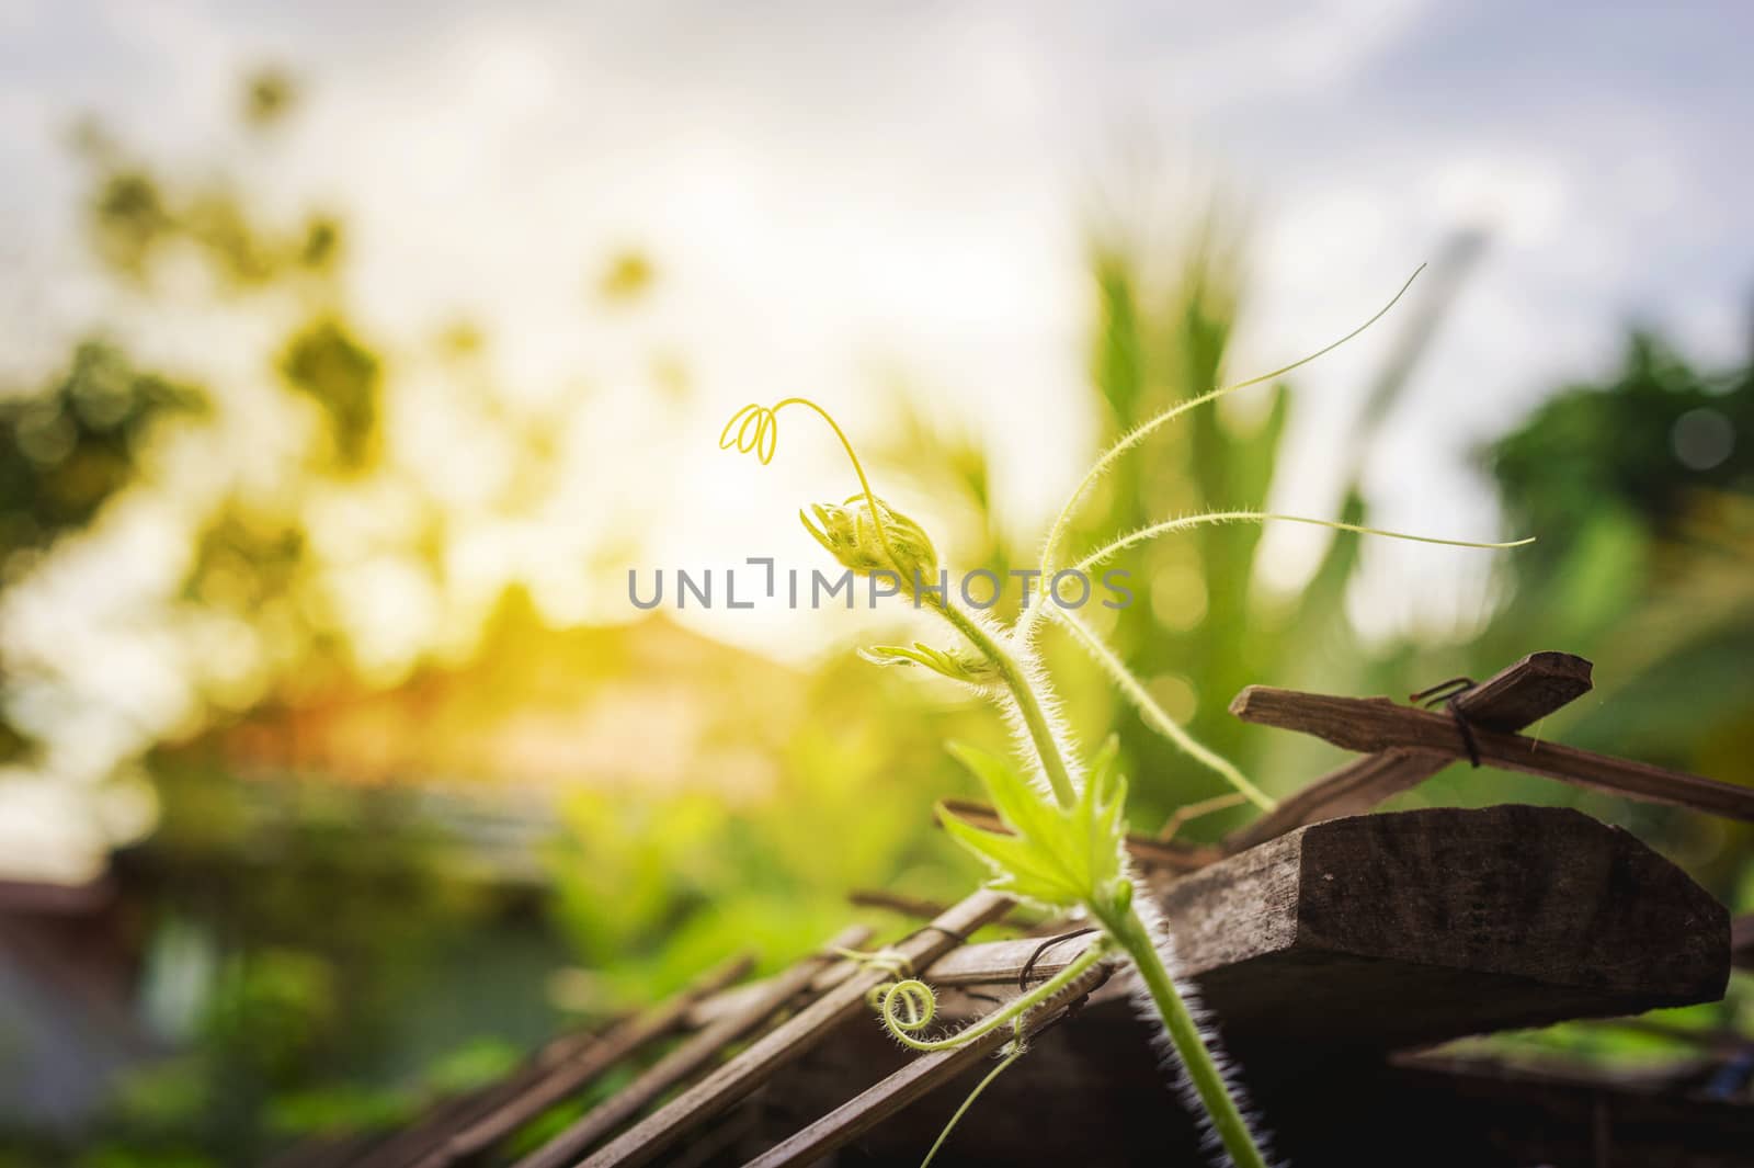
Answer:
[[(933, 928), (909, 937), (895, 949), (916, 968), (926, 966), (956, 945), (956, 937), (966, 937), (1009, 908), (1010, 901), (1003, 896), (975, 893), (937, 917)], [(609, 1168), (610, 1164), (645, 1164), (663, 1156), (702, 1122), (723, 1114), (724, 1108), (761, 1086), (775, 1070), (809, 1052), (833, 1026), (866, 1008), (865, 993), (888, 977), (881, 970), (851, 973), (791, 1019), (770, 1029), (735, 1059), (616, 1136), (584, 1163), (589, 1168)]]

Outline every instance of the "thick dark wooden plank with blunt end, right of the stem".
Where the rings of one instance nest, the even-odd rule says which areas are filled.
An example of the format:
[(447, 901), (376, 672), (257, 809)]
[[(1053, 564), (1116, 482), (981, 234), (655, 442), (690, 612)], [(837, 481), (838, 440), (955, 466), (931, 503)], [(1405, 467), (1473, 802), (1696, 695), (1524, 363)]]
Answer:
[(1226, 1033), (1403, 1045), (1715, 1001), (1729, 914), (1633, 835), (1551, 807), (1330, 819), (1163, 886)]

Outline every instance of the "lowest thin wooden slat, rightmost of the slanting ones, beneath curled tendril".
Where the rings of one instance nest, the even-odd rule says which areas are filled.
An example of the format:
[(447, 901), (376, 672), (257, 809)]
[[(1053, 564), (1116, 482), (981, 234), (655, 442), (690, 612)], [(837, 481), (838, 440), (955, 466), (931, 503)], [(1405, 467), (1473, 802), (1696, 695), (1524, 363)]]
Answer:
[[(1035, 1033), (1065, 1012), (1093, 989), (1109, 979), (1107, 966), (1096, 966), (1084, 973), (1065, 991), (1054, 994), (1051, 1001), (1033, 1010), (1024, 1022), (1026, 1033)], [(1002, 1026), (989, 1035), (970, 1040), (952, 1050), (933, 1050), (921, 1054), (902, 1070), (884, 1077), (881, 1082), (847, 1100), (828, 1115), (809, 1124), (802, 1131), (782, 1140), (744, 1168), (786, 1168), (788, 1164), (810, 1164), (830, 1156), (891, 1115), (905, 1110), (916, 1100), (931, 1094), (949, 1084), (970, 1066), (979, 1065), (989, 1054), (1012, 1040), (1012, 1028)]]

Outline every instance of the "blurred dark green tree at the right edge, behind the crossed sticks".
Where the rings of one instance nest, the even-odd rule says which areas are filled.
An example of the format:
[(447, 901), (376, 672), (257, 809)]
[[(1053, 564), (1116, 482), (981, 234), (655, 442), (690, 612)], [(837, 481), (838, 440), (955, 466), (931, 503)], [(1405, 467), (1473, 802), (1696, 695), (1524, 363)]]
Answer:
[[(1598, 689), (1556, 717), (1568, 742), (1754, 784), (1750, 435), (1754, 365), (1705, 372), (1633, 331), (1617, 374), (1561, 389), (1493, 442), (1482, 461), (1505, 512), (1540, 542), (1507, 561), (1479, 668), (1580, 652)], [(1635, 815), (1731, 903), (1745, 896), (1747, 824), (1607, 810)]]

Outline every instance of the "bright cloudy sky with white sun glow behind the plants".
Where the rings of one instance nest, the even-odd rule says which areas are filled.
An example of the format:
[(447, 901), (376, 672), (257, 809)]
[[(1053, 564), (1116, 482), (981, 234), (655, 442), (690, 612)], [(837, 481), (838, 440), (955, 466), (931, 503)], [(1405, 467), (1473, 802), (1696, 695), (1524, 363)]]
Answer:
[[(624, 610), (619, 588), (577, 593), (609, 484), (626, 496), (607, 510), (649, 510), (649, 565), (816, 563), (789, 516), (842, 493), (826, 444), (800, 419), (758, 474), (717, 454), (719, 419), (810, 393), (875, 426), (889, 370), (986, 437), (1019, 531), (1038, 531), (1093, 454), (1082, 226), (1094, 193), (1117, 188), (1170, 221), (1217, 182), (1247, 216), (1235, 375), (1349, 330), (1458, 226), (1491, 230), (1368, 486), (1389, 526), (1494, 538), (1470, 449), (1556, 381), (1608, 367), (1629, 319), (1707, 360), (1745, 351), (1749, 44), (1754, 7), (1731, 0), (0, 0), (0, 367), (53, 365), (114, 307), (74, 230), (70, 119), (98, 112), (170, 163), (212, 160), (237, 147), (240, 72), (275, 61), (307, 105), (253, 165), (272, 202), (349, 216), (351, 293), (374, 333), (416, 344), (468, 312), (505, 384), (598, 388), (568, 438), (589, 461), (572, 510), (477, 549), (495, 572), (547, 580), (558, 610)], [(1123, 181), (1140, 172), (1154, 179)], [(584, 300), (593, 265), (628, 244), (665, 274), (633, 323)], [(133, 331), (170, 368), (225, 375), (242, 360), (205, 319)], [(1298, 375), (1275, 505), (1333, 509), (1324, 456), (1389, 340)], [(686, 356), (705, 405), (691, 419), (651, 405), (654, 347)], [(151, 523), (130, 538), (139, 580), (174, 573)], [(1287, 531), (1273, 547), (1275, 575), (1294, 580), (1310, 544)], [(1372, 547), (1356, 609), (1379, 633), (1465, 619), (1484, 563), (1456, 556)], [(831, 635), (830, 619), (809, 635)], [(712, 631), (798, 624), (721, 614)], [(153, 652), (121, 675), (151, 675)], [(133, 733), (174, 707), (135, 710)]]

